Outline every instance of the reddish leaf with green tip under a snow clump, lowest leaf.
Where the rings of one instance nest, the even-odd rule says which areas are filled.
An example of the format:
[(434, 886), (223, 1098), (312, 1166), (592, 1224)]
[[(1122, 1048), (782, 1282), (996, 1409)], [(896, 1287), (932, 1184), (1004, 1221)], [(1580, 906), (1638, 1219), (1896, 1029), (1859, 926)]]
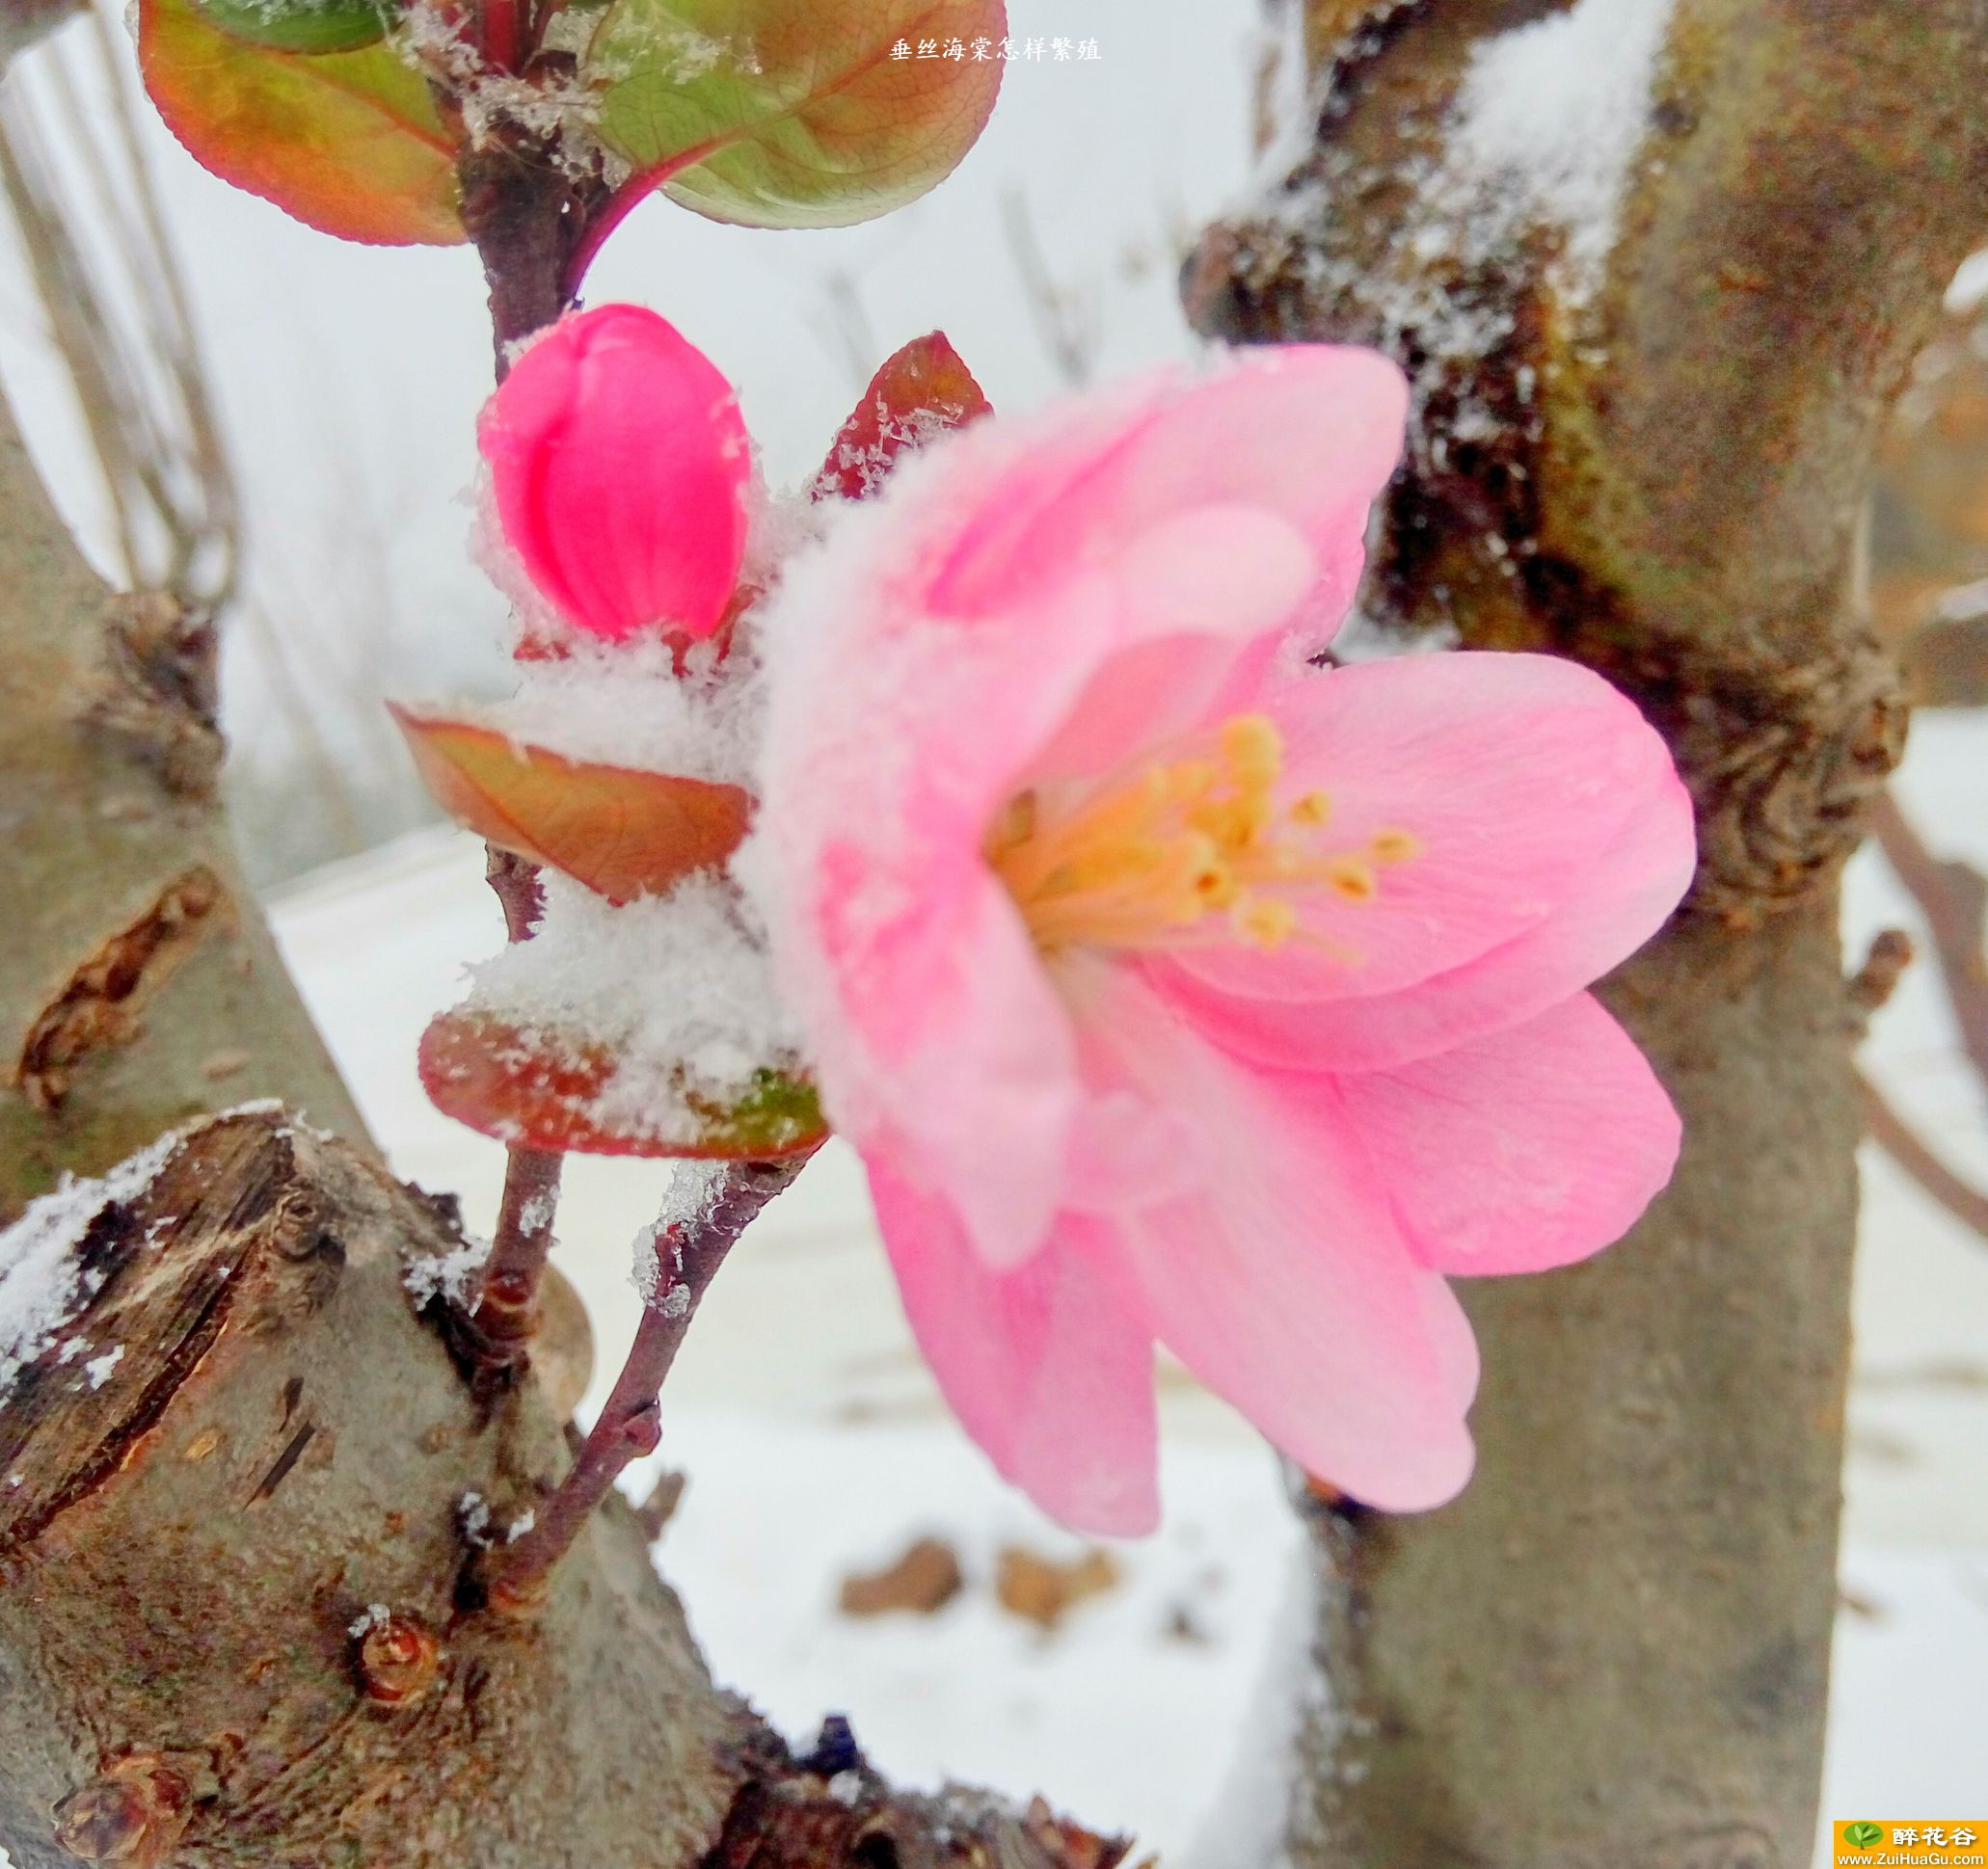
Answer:
[[(421, 1084), (435, 1107), (529, 1149), (775, 1161), (805, 1155), (829, 1133), (813, 1084), (769, 1066), (730, 1104), (678, 1078), (642, 1105), (616, 1096), (618, 1072), (600, 1044), (523, 1032), (483, 1012), (443, 1012), (421, 1034)], [(610, 1100), (614, 1115), (604, 1113)]]

